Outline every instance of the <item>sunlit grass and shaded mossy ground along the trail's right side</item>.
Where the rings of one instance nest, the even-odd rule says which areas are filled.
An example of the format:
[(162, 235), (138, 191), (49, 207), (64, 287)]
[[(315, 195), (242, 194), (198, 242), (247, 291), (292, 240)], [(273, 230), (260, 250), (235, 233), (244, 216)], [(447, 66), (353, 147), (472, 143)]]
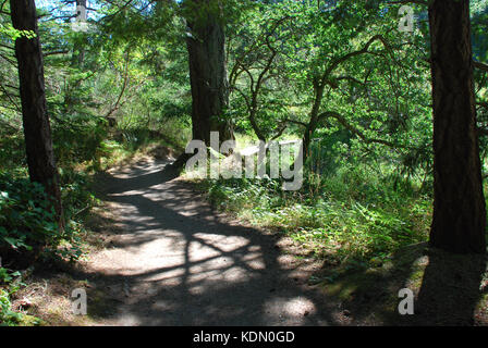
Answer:
[[(289, 236), (309, 251), (302, 254), (322, 260), (308, 285), (341, 302), (344, 322), (488, 325), (486, 260), (429, 249), (425, 183), (392, 173), (341, 163), (326, 175), (306, 172), (294, 192), (278, 179), (200, 179), (196, 187), (219, 210)], [(399, 314), (402, 288), (414, 294), (415, 315)]]

